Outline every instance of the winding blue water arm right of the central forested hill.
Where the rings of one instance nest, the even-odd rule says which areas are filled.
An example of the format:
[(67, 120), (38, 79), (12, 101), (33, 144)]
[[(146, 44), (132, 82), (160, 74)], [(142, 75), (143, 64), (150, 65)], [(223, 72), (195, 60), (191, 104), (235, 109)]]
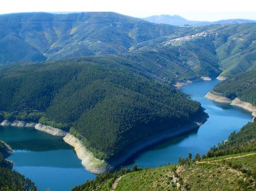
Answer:
[(142, 168), (177, 163), (179, 157), (187, 157), (188, 153), (205, 154), (213, 145), (225, 141), (231, 132), (238, 131), (243, 125), (252, 120), (251, 113), (228, 104), (208, 100), (204, 95), (219, 83), (218, 80), (195, 82), (183, 86), (181, 91), (189, 94), (193, 100), (201, 103), (209, 118), (198, 131), (143, 151), (126, 163), (131, 168), (135, 164)]

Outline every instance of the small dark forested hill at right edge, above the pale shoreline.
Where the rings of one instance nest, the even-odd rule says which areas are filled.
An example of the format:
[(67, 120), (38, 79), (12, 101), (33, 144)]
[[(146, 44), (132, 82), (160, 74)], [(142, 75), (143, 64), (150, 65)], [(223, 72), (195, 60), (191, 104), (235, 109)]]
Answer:
[(213, 91), (229, 99), (239, 97), (256, 106), (256, 68), (229, 77), (214, 86)]

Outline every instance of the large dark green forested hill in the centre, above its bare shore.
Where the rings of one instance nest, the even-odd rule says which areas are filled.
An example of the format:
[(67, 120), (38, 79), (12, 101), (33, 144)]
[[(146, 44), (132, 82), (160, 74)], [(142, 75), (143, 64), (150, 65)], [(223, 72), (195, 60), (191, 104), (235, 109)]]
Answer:
[(2, 118), (73, 127), (97, 157), (109, 158), (202, 115), (200, 103), (121, 61), (88, 57), (2, 67)]

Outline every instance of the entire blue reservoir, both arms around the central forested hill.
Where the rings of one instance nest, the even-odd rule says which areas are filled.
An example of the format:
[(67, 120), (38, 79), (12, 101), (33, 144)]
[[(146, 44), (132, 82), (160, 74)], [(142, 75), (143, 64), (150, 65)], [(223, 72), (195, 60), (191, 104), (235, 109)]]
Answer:
[[(213, 145), (225, 141), (231, 132), (251, 121), (251, 113), (204, 97), (216, 83), (219, 81), (194, 82), (181, 88), (193, 100), (201, 102), (209, 115), (205, 124), (189, 135), (170, 139), (136, 154), (123, 166), (157, 167), (177, 163), (179, 157), (187, 157), (188, 153), (193, 156), (205, 154)], [(14, 161), (14, 170), (30, 178), (40, 190), (70, 190), (96, 177), (84, 169), (73, 148), (60, 137), (33, 128), (0, 126), (0, 139), (13, 148), (14, 154), (8, 159)]]

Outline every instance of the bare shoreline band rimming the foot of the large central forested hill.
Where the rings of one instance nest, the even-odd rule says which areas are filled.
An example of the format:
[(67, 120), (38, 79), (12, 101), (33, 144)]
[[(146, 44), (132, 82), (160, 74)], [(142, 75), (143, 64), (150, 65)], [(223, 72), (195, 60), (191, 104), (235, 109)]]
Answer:
[(189, 124), (184, 124), (182, 126), (177, 126), (175, 129), (170, 129), (165, 132), (157, 133), (155, 136), (150, 138), (143, 139), (139, 142), (136, 147), (132, 150), (128, 150), (125, 154), (120, 154), (120, 156), (113, 157), (110, 160), (100, 160), (93, 156), (93, 153), (90, 152), (79, 139), (70, 133), (64, 132), (63, 130), (45, 126), (40, 123), (26, 123), (24, 121), (7, 121), (4, 120), (0, 123), (1, 126), (12, 126), (12, 127), (25, 127), (25, 128), (34, 128), (42, 132), (54, 135), (62, 136), (63, 141), (66, 144), (69, 144), (75, 150), (76, 156), (81, 160), (82, 165), (86, 168), (87, 171), (92, 172), (93, 174), (102, 174), (109, 172), (114, 168), (122, 165), (126, 160), (133, 157), (135, 154), (143, 151), (144, 149), (151, 147), (152, 145), (157, 144), (158, 142), (164, 141), (166, 139), (175, 138), (177, 136), (184, 135), (186, 133), (192, 132), (193, 130), (198, 130), (199, 127), (207, 121), (207, 118), (200, 117), (200, 120), (193, 121)]

